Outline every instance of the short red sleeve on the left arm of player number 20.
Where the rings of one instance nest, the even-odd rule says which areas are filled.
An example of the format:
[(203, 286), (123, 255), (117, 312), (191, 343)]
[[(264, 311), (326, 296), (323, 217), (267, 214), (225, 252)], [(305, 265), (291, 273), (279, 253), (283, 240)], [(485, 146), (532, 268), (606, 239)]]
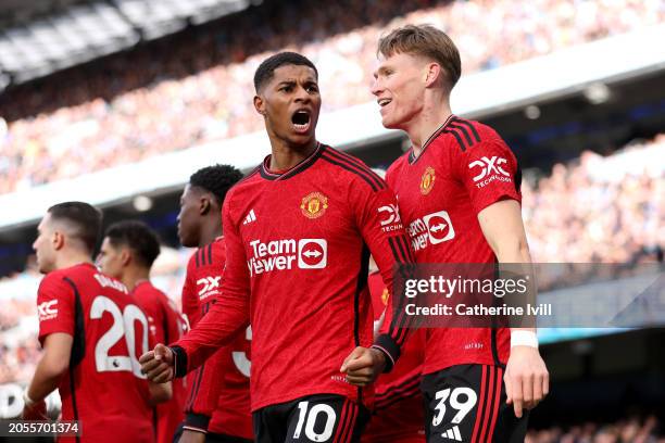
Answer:
[(48, 275), (37, 292), (39, 342), (53, 332), (74, 336), (74, 288), (60, 275)]

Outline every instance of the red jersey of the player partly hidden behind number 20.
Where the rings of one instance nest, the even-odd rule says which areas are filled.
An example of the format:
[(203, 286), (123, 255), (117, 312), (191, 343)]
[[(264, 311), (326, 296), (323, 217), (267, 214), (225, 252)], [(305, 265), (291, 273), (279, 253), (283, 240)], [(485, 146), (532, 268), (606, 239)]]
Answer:
[[(183, 318), (166, 294), (148, 280), (139, 282), (131, 294), (148, 316), (148, 325), (155, 343), (171, 343), (183, 336), (185, 327)], [(185, 380), (174, 380), (173, 397), (168, 402), (156, 405), (156, 441), (159, 443), (173, 441), (173, 434), (184, 418), (186, 390)]]

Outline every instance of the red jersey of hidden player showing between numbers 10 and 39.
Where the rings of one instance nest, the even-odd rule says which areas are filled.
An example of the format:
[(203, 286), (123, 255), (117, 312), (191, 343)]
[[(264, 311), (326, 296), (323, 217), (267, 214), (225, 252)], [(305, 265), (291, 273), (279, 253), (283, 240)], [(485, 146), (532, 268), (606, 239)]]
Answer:
[[(379, 273), (369, 274), (374, 320), (378, 321), (390, 296)], [(425, 417), (421, 393), (421, 371), (425, 360), (425, 329), (411, 333), (402, 355), (389, 374), (374, 382), (372, 420), (362, 443), (425, 443)]]

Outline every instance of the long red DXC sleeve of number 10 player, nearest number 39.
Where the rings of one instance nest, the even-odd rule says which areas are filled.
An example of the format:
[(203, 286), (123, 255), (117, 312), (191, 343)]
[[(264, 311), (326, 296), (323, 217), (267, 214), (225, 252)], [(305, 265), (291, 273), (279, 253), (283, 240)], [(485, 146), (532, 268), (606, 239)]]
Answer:
[[(414, 263), (413, 251), (406, 238), (406, 232), (400, 218), (400, 211), (394, 193), (381, 180), (378, 191), (372, 192), (366, 187), (354, 187), (351, 204), (355, 211), (357, 227), (363, 240), (369, 248), (369, 252), (378, 266), (379, 273), (389, 291), (389, 303), (397, 299), (401, 303), (403, 295), (403, 279), (397, 282), (396, 290), (393, 271), (397, 266)], [(377, 338), (374, 347), (381, 350), (390, 359), (387, 370), (400, 356), (400, 347), (406, 339), (409, 318), (406, 316), (393, 316), (393, 306), (389, 305), (386, 312), (384, 327)]]

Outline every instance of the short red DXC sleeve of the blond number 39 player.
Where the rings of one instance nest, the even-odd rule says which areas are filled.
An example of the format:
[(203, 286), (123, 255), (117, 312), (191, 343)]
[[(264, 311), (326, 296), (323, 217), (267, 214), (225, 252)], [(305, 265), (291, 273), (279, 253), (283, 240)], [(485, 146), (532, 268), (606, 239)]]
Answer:
[(476, 214), (500, 200), (522, 201), (517, 159), (499, 136), (457, 152), (453, 174), (466, 188)]

